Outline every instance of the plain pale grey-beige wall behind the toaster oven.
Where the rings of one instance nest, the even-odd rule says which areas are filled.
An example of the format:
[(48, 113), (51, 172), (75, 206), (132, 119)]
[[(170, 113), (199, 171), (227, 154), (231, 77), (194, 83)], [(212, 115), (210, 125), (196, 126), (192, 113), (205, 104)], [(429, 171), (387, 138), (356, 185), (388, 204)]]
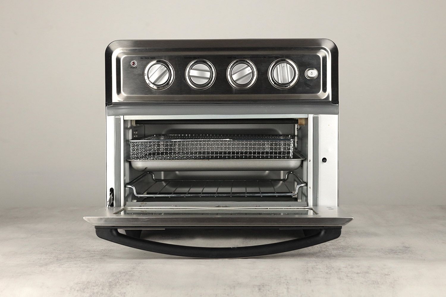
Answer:
[(444, 1), (2, 1), (1, 206), (104, 204), (116, 39), (325, 37), (342, 204), (445, 204)]

